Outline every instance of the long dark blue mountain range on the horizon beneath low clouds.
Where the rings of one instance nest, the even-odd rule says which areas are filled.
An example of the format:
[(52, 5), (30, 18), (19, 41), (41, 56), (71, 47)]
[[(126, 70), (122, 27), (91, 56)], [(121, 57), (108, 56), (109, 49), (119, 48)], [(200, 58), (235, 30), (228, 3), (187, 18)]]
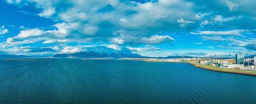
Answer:
[(138, 54), (123, 54), (123, 53), (95, 53), (93, 51), (88, 52), (80, 52), (80, 53), (74, 53), (74, 54), (57, 54), (53, 57), (56, 58), (142, 58), (142, 56)]

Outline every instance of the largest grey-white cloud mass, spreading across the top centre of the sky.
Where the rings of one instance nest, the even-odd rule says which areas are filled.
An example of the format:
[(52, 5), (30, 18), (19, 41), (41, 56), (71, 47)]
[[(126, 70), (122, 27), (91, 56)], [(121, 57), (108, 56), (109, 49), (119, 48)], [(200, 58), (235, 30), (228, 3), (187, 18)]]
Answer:
[[(117, 44), (125, 44), (125, 42), (126, 44), (149, 43), (144, 42), (148, 41), (146, 37), (152, 36), (151, 39), (158, 38), (158, 36), (153, 36), (157, 31), (178, 29), (178, 19), (180, 19), (178, 22), (185, 25), (194, 22), (180, 18), (194, 19), (189, 17), (193, 15), (193, 10), (189, 9), (193, 7), (193, 4), (185, 1), (160, 0), (158, 2), (127, 3), (103, 0), (79, 2), (42, 2), (32, 0), (23, 1), (20, 5), (23, 3), (37, 4), (36, 8), (43, 9), (42, 12), (38, 14), (41, 17), (50, 18), (55, 21), (63, 21), (62, 23), (54, 24), (53, 27), (56, 28), (54, 30), (44, 30), (55, 37), (51, 36), (50, 41), (46, 40), (43, 43), (62, 42), (60, 40), (70, 40), (71, 38), (92, 38), (92, 42), (100, 41)], [(55, 5), (54, 3), (63, 5)], [(170, 8), (171, 6), (177, 8)], [(110, 8), (111, 10), (108, 10)], [(165, 28), (168, 25), (170, 28)], [(151, 31), (152, 28), (154, 30)], [(133, 42), (126, 40), (125, 37), (143, 38), (143, 41)], [(108, 40), (109, 38), (111, 40)], [(161, 38), (162, 37), (160, 37), (159, 40), (165, 40)], [(163, 38), (171, 40), (170, 37)], [(151, 43), (161, 44), (161, 41), (157, 40), (158, 39), (153, 39), (152, 41), (155, 42)]]

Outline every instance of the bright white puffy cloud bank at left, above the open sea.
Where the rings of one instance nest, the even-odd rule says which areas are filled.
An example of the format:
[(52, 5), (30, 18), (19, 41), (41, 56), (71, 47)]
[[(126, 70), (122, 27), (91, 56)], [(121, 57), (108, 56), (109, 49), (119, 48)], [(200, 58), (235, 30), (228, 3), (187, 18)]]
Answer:
[[(35, 42), (48, 43), (88, 43), (92, 38), (80, 38), (81, 35), (71, 34), (78, 27), (78, 23), (56, 23), (53, 25), (54, 30), (41, 30), (39, 28), (21, 30), (17, 36), (7, 38), (5, 45), (21, 45)], [(70, 36), (70, 38), (67, 38)]]

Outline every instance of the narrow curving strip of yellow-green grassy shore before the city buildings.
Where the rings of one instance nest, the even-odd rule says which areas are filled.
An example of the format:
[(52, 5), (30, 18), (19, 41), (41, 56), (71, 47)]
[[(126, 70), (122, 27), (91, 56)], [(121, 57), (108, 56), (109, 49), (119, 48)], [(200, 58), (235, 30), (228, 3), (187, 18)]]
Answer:
[(199, 63), (193, 63), (193, 62), (186, 62), (186, 63), (192, 64), (195, 67), (202, 68), (205, 70), (256, 76), (256, 71), (251, 71), (251, 70), (223, 69), (223, 68), (211, 67), (211, 66), (206, 66)]

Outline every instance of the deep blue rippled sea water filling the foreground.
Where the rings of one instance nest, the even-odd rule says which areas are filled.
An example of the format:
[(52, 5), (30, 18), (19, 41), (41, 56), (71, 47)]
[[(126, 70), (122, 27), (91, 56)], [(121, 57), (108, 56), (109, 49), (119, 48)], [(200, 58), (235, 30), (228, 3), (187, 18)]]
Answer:
[(256, 76), (187, 63), (0, 59), (0, 103), (256, 103)]

